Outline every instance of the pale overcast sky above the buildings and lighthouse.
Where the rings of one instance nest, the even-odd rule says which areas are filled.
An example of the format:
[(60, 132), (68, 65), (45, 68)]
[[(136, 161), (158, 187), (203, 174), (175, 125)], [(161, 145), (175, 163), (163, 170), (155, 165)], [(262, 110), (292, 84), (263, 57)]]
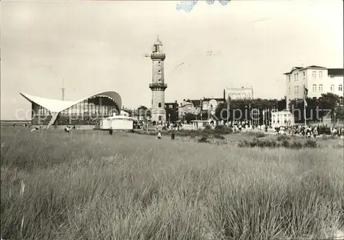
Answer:
[[(30, 109), (19, 92), (77, 100), (117, 91), (151, 105), (151, 52), (166, 54), (165, 102), (250, 87), (283, 98), (294, 66), (343, 67), (343, 1), (1, 1), (1, 120)], [(211, 56), (208, 51), (213, 52)], [(184, 64), (182, 64), (184, 63)]]

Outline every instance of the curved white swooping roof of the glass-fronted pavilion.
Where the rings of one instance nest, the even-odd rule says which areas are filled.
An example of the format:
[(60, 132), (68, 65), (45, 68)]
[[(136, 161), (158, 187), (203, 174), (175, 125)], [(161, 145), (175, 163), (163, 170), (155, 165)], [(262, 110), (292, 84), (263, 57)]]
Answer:
[(50, 98), (41, 98), (37, 96), (32, 96), (29, 94), (23, 94), (20, 93), (21, 96), (26, 98), (30, 102), (35, 102), (38, 105), (41, 105), (45, 109), (48, 109), (49, 111), (52, 112), (60, 112), (63, 111), (69, 107), (72, 107), (73, 105), (76, 105), (76, 103), (81, 102), (87, 98), (92, 98), (95, 96), (107, 96), (109, 98), (112, 98), (118, 105), (118, 108), (122, 108), (122, 98), (120, 97), (120, 94), (118, 94), (116, 91), (103, 91), (100, 92), (99, 94), (94, 94), (92, 96), (87, 96), (85, 98), (81, 98), (79, 100), (75, 101), (63, 101), (63, 100), (55, 100), (55, 99), (50, 99)]

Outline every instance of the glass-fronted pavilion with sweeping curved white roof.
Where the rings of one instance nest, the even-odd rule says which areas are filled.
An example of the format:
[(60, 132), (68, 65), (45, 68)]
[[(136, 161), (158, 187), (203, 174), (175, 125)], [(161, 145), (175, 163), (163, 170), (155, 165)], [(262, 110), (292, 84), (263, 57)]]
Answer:
[(99, 126), (101, 118), (119, 115), (122, 98), (115, 91), (105, 91), (76, 101), (53, 100), (22, 94), (31, 102), (32, 124)]

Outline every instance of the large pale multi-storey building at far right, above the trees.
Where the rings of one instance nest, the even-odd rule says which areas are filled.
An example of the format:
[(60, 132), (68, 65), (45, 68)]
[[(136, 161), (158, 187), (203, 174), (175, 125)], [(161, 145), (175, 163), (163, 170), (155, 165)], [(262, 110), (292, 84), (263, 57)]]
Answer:
[(303, 98), (303, 86), (308, 89), (308, 98), (326, 93), (343, 96), (343, 68), (293, 67), (285, 75), (287, 108), (290, 100)]

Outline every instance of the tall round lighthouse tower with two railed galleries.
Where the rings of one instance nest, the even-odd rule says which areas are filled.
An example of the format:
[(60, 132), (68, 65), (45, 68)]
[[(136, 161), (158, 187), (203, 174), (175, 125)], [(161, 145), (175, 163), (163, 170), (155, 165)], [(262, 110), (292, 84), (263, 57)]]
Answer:
[(153, 65), (151, 89), (151, 120), (155, 122), (166, 122), (165, 111), (165, 89), (164, 83), (164, 60), (166, 56), (162, 52), (162, 43), (158, 39), (153, 45), (151, 52), (151, 61)]

